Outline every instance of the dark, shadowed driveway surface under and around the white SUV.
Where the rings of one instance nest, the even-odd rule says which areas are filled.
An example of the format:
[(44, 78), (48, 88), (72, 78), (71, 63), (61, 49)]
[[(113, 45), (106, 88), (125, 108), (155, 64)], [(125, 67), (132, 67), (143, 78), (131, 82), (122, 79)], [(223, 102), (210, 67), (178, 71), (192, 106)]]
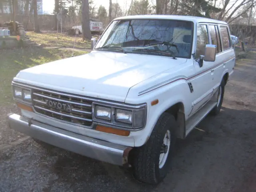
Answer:
[[(254, 53), (255, 54), (255, 53)], [(158, 186), (131, 172), (26, 140), (0, 152), (0, 192), (255, 192), (256, 54), (238, 62), (220, 114), (179, 141)]]

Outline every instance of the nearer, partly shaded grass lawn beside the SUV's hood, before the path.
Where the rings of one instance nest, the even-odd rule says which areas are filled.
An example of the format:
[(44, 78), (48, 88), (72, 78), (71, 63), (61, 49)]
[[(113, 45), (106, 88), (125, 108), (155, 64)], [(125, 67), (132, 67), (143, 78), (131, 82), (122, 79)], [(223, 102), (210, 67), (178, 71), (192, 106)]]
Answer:
[[(86, 52), (74, 52), (74, 56)], [(72, 56), (71, 50), (25, 48), (0, 50), (0, 108), (13, 103), (11, 82), (25, 68)]]

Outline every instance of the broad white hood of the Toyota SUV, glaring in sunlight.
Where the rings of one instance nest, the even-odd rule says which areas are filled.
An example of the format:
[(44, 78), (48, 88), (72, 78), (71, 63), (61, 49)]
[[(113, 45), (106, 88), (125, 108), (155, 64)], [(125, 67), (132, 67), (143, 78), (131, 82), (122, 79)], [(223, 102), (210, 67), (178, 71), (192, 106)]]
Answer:
[(132, 86), (184, 62), (183, 58), (92, 51), (22, 70), (14, 81), (124, 102)]

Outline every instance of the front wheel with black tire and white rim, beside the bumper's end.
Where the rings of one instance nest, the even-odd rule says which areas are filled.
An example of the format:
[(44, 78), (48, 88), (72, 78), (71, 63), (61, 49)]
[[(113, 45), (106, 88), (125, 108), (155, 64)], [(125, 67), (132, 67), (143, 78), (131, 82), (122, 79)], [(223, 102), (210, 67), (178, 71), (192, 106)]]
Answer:
[(158, 184), (171, 166), (174, 152), (176, 120), (164, 112), (156, 123), (146, 144), (134, 149), (134, 177), (148, 184)]

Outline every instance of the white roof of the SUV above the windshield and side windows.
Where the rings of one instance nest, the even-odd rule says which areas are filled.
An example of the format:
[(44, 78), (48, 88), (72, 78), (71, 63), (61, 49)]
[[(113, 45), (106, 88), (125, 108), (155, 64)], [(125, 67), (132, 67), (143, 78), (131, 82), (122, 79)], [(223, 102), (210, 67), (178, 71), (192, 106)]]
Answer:
[(133, 16), (124, 16), (119, 17), (114, 20), (126, 20), (126, 19), (174, 19), (174, 20), (186, 20), (192, 21), (194, 23), (198, 22), (210, 22), (210, 23), (218, 23), (225, 24), (224, 21), (219, 21), (215, 19), (203, 18), (203, 17), (194, 17), (194, 16), (182, 16), (182, 15), (133, 15)]

